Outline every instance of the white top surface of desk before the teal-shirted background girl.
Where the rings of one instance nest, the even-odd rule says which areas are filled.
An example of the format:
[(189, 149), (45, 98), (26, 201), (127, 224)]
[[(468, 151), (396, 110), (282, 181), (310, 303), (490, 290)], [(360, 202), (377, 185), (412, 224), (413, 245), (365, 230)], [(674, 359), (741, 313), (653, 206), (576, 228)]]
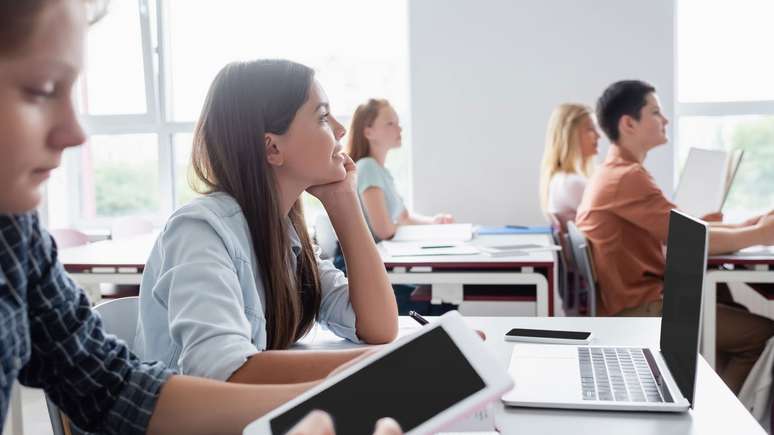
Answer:
[[(549, 234), (500, 234), (476, 236), (472, 241), (467, 242), (473, 246), (504, 246), (504, 245), (553, 245), (554, 242)], [(472, 255), (432, 255), (432, 256), (406, 256), (393, 257), (387, 253), (384, 246), (377, 245), (379, 254), (387, 267), (395, 266), (443, 266), (443, 265), (497, 265), (511, 264), (520, 265), (552, 265), (554, 263), (555, 252), (539, 251), (530, 252), (526, 255), (492, 257), (487, 254), (479, 253)]]

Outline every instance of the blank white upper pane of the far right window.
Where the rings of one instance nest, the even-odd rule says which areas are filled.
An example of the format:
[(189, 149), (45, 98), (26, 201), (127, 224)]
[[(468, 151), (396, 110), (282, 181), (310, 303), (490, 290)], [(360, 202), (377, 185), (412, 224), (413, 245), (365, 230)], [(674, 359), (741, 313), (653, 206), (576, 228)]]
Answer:
[(679, 0), (678, 99), (774, 99), (774, 2)]

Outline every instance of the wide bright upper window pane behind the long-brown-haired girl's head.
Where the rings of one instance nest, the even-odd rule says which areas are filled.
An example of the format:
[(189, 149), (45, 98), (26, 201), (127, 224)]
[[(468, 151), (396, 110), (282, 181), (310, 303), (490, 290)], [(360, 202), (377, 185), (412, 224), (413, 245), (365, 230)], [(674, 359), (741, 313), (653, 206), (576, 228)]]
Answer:
[[(334, 114), (369, 97), (408, 100), (405, 1), (171, 0), (170, 74), (175, 120), (192, 121), (228, 62), (287, 58), (317, 71)], [(203, 31), (202, 23), (207, 23)]]

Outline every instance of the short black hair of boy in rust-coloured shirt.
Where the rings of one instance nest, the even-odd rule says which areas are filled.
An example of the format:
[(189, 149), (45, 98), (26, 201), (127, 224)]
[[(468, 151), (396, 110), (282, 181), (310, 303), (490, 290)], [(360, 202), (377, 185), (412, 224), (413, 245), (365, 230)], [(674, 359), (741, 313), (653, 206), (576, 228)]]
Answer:
[(610, 142), (618, 141), (618, 122), (624, 115), (640, 119), (648, 94), (656, 92), (650, 83), (641, 80), (621, 80), (608, 86), (597, 100), (597, 121)]

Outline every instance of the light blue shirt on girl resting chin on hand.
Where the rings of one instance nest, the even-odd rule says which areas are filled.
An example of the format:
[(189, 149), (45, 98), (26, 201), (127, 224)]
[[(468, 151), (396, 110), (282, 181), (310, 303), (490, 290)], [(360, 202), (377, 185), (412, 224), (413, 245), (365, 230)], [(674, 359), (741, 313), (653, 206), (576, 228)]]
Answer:
[[(288, 227), (295, 270), (301, 243)], [(346, 277), (319, 252), (316, 257), (321, 325), (359, 342)], [(247, 221), (231, 196), (213, 193), (186, 204), (169, 219), (145, 265), (135, 352), (181, 374), (225, 381), (266, 349), (260, 277)]]

